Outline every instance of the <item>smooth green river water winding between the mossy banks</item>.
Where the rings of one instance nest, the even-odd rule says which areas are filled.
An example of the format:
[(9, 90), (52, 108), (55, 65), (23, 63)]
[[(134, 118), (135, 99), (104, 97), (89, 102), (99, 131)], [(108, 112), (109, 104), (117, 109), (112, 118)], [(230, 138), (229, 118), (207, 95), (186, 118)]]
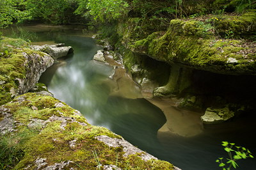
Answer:
[[(109, 128), (124, 139), (157, 158), (172, 162), (181, 169), (219, 169), (218, 157), (228, 158), (221, 141), (242, 145), (256, 153), (255, 114), (223, 123), (208, 125), (193, 137), (157, 135), (166, 123), (158, 107), (141, 97), (136, 84), (123, 82), (122, 93), (113, 93), (109, 76), (113, 66), (93, 61), (97, 50), (92, 35), (83, 34), (76, 27), (23, 26), (4, 30), (4, 35), (23, 36), (36, 42), (65, 43), (74, 54), (60, 59), (42, 75), (54, 97), (81, 111), (92, 125)], [(124, 75), (129, 76), (129, 75)], [(126, 84), (126, 85), (125, 85)], [(127, 85), (128, 84), (128, 85)], [(182, 122), (175, 122), (181, 126)], [(256, 160), (238, 161), (241, 169), (256, 169)]]

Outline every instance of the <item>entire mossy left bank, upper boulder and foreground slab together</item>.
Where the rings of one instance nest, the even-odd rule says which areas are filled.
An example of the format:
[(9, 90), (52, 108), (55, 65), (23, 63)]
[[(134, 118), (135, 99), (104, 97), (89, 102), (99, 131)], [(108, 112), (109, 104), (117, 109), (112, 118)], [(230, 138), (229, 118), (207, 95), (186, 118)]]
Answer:
[(0, 58), (3, 168), (178, 169), (120, 135), (90, 125), (79, 111), (52, 97), (44, 84), (35, 85), (52, 65), (51, 56), (31, 50), (22, 40), (4, 38), (1, 43), (1, 49), (6, 47)]

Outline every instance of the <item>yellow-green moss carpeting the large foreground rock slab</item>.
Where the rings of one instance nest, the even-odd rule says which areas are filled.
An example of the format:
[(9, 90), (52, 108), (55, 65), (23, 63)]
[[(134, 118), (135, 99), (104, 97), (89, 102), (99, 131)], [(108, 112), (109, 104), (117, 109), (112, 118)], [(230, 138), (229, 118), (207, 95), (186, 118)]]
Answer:
[[(47, 104), (41, 104), (45, 102)], [(63, 104), (63, 107), (54, 107), (60, 103), (52, 97), (44, 97), (36, 93), (26, 93), (10, 102), (4, 107), (10, 109), (10, 114), (19, 124), (19, 131), (23, 128), (32, 129), (28, 126), (31, 120), (47, 120), (50, 115), (65, 118), (65, 121), (56, 119), (46, 121), (44, 128), (35, 131), (20, 146), (24, 156), (15, 169), (35, 169), (37, 158), (46, 158), (47, 166), (58, 162), (72, 160), (70, 167), (95, 169), (99, 160), (102, 165), (117, 165), (124, 169), (172, 169), (172, 164), (160, 160), (141, 160), (138, 155), (125, 158), (122, 147), (112, 148), (95, 139), (98, 135), (121, 139), (119, 135), (103, 127), (95, 127), (87, 123), (85, 118), (75, 113), (76, 110)], [(44, 108), (45, 106), (49, 106)], [(46, 118), (46, 119), (45, 119)], [(69, 121), (68, 121), (69, 120)], [(72, 121), (71, 121), (72, 120)], [(65, 123), (64, 123), (65, 122)], [(82, 125), (80, 122), (86, 123)], [(64, 123), (64, 124), (63, 124)], [(40, 133), (39, 133), (40, 132)], [(70, 146), (70, 141), (75, 141)]]

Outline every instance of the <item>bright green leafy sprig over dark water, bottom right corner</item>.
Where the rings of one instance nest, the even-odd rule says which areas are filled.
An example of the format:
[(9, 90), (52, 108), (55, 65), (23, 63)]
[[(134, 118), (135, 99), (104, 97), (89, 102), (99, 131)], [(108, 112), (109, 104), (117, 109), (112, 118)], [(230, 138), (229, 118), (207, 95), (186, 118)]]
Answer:
[[(236, 161), (239, 159), (253, 158), (250, 150), (241, 146), (235, 146), (235, 143), (228, 143), (227, 141), (223, 141), (221, 145), (225, 147), (224, 150), (227, 151), (229, 157), (226, 158), (227, 162), (225, 162), (225, 159), (223, 159), (223, 157), (216, 160), (216, 162), (218, 162), (219, 164), (219, 167), (222, 167), (223, 170), (229, 170), (232, 167), (236, 169), (236, 167), (238, 167)], [(232, 148), (236, 148), (236, 150), (233, 150)]]

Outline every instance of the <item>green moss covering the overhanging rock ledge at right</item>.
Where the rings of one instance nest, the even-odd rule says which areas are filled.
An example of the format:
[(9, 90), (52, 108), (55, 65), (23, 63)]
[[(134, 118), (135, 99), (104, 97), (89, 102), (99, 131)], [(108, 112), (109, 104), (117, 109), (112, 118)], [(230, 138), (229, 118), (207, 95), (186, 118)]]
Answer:
[[(182, 22), (175, 21), (175, 24), (177, 23)], [(184, 34), (178, 35), (176, 31), (173, 32), (172, 27), (163, 36), (152, 37), (154, 38), (147, 40), (149, 42), (147, 55), (160, 61), (170, 64), (180, 63), (192, 68), (219, 73), (231, 71), (255, 73), (256, 71), (249, 62), (250, 59), (255, 60), (255, 54), (251, 54), (250, 59), (242, 58), (242, 55), (238, 54), (243, 50), (253, 50), (253, 47), (244, 45), (246, 44), (244, 40), (214, 40)], [(227, 65), (227, 59), (230, 57), (238, 60), (237, 65)], [(244, 64), (248, 67), (243, 71)]]

